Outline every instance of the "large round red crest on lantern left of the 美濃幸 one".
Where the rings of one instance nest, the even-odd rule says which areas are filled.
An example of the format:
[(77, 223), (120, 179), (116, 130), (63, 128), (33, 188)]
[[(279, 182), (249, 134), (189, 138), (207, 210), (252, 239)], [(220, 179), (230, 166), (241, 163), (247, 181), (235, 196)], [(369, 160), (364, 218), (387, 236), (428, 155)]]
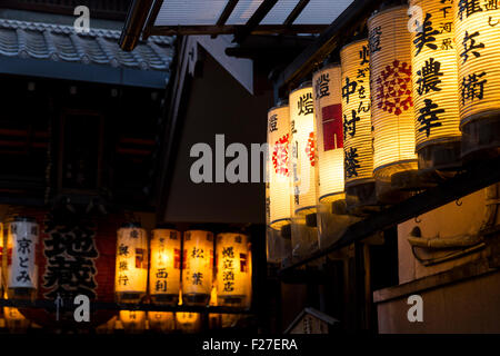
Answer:
[(394, 60), (377, 79), (377, 106), (397, 116), (413, 106), (411, 98), (411, 66)]

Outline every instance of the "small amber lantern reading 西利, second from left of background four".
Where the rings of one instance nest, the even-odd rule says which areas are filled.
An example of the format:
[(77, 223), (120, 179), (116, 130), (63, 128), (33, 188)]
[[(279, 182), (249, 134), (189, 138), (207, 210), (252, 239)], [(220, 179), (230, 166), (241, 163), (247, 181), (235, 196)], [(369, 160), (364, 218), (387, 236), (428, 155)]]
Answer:
[(151, 236), (149, 293), (157, 304), (177, 305), (180, 289), (181, 234), (154, 229)]

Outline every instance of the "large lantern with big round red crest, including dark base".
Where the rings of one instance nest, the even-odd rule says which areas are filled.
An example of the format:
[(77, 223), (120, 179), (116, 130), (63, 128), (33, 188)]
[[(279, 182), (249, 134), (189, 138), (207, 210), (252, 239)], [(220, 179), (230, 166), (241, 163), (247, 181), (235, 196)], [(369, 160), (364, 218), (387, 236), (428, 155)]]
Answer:
[(396, 177), (414, 172), (418, 168), (407, 13), (408, 7), (401, 6), (382, 10), (368, 19), (373, 175), (377, 194), (382, 201), (393, 199)]

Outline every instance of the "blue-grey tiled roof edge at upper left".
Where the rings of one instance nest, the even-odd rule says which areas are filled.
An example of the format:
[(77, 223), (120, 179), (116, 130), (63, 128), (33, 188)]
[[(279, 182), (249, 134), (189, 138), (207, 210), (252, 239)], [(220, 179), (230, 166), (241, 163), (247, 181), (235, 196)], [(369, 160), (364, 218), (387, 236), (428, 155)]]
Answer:
[(168, 71), (173, 38), (152, 36), (133, 51), (118, 46), (120, 31), (0, 19), (0, 56), (44, 59), (140, 70)]

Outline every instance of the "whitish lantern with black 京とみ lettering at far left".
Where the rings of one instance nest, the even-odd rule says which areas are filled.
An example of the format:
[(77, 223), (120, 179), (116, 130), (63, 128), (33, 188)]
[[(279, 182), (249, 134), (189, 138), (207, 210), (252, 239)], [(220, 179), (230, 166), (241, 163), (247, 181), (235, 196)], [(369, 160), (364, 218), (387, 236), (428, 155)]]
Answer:
[(11, 299), (33, 299), (38, 289), (39, 227), (30, 217), (16, 217), (8, 233), (8, 295)]

